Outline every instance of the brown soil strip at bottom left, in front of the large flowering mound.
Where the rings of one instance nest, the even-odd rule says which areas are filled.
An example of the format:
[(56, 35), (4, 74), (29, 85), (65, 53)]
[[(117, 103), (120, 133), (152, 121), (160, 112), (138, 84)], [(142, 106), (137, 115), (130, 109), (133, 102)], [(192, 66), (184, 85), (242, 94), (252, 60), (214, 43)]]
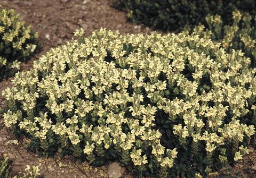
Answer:
[[(17, 140), (6, 131), (1, 123), (0, 129), (0, 152), (8, 155), (12, 162), (11, 175), (24, 172), (26, 165), (30, 167), (38, 165), (43, 177), (108, 177), (105, 167), (93, 168), (87, 163), (77, 163), (69, 156), (60, 158), (55, 155), (51, 158), (39, 158), (38, 154), (26, 150), (26, 138)], [(93, 175), (93, 176), (92, 176)]]

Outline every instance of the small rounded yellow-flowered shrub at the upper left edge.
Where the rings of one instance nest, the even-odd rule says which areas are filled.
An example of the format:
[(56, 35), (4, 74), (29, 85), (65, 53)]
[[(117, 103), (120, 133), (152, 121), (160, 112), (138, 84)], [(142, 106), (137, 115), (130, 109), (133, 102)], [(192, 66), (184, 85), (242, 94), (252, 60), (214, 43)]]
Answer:
[(19, 14), (0, 6), (0, 81), (19, 70), (20, 62), (35, 51), (37, 38)]

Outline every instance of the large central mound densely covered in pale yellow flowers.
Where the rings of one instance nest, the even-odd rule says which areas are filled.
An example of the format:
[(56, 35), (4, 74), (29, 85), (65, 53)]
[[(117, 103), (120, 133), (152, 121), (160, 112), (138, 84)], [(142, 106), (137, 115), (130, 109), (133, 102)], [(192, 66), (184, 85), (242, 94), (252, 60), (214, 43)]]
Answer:
[[(138, 175), (206, 177), (248, 154), (256, 69), (197, 35), (83, 30), (3, 91), (6, 128), (32, 150)], [(254, 100), (249, 103), (249, 99)]]

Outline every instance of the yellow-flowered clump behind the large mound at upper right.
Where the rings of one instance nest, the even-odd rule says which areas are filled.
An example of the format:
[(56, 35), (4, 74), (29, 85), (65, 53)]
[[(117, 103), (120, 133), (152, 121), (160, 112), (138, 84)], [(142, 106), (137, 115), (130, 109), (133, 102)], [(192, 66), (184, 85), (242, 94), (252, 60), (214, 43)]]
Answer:
[(207, 15), (204, 26), (199, 24), (194, 29), (186, 29), (184, 33), (193, 32), (202, 38), (212, 39), (221, 43), (227, 52), (233, 49), (242, 49), (247, 57), (251, 58), (251, 67), (256, 66), (256, 16), (249, 13), (234, 11), (233, 22), (225, 25), (220, 15)]

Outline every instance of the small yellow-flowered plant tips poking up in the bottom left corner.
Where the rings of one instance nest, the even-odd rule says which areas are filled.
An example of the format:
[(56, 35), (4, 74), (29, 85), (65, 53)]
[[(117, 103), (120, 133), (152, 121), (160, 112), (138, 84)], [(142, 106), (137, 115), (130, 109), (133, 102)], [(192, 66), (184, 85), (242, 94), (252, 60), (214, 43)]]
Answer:
[[(7, 155), (0, 156), (0, 178), (10, 177), (11, 162)], [(36, 178), (39, 174), (38, 166), (33, 166), (31, 170), (29, 166), (26, 167), (25, 172), (22, 176), (13, 176), (13, 178)]]

